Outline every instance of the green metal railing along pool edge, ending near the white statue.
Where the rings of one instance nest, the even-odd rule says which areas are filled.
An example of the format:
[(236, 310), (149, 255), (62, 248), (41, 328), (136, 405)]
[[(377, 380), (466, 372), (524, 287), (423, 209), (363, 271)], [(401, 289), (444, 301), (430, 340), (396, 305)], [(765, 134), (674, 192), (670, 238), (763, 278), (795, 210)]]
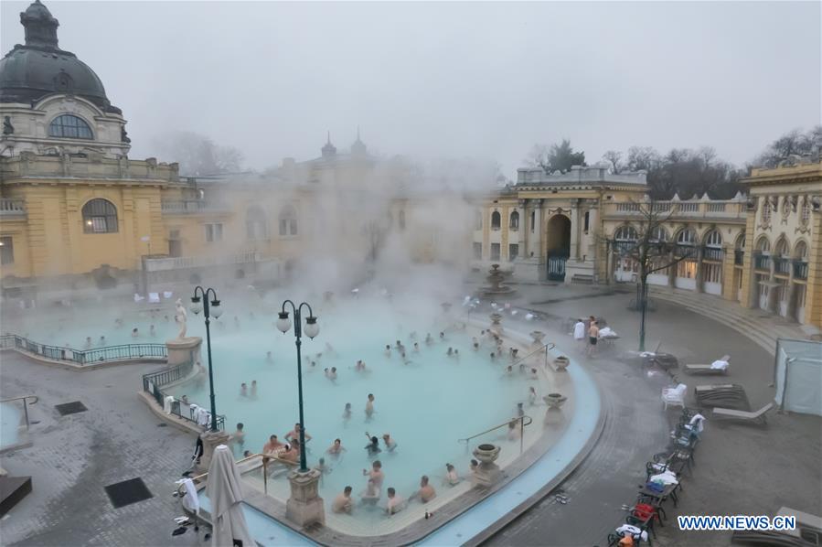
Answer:
[(7, 334), (0, 337), (0, 348), (15, 349), (45, 359), (65, 361), (77, 365), (168, 358), (168, 349), (165, 348), (165, 344), (122, 344), (119, 346), (106, 346), (105, 348), (73, 349), (40, 344), (16, 334)]

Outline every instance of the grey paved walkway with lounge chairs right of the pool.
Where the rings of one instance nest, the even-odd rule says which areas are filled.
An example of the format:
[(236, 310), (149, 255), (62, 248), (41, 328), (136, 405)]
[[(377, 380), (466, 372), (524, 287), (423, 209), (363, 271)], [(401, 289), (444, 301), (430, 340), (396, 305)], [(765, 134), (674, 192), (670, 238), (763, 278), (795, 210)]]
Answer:
[[(626, 312), (633, 294), (580, 298), (571, 287), (520, 287), (519, 303), (555, 318), (604, 316), (623, 338), (612, 353), (588, 361), (603, 383), (603, 404), (611, 415), (601, 442), (582, 466), (560, 485), (569, 498), (561, 505), (549, 496), (487, 543), (492, 545), (603, 545), (608, 531), (625, 518), (622, 504), (634, 501), (636, 485), (645, 479), (645, 463), (667, 445), (668, 425), (677, 411), (663, 413), (659, 400), (667, 376), (648, 378), (636, 363), (638, 314)], [(582, 289), (584, 290), (584, 289)], [(589, 289), (590, 291), (590, 289)], [(564, 295), (564, 297), (563, 297)], [(535, 304), (550, 301), (548, 305)], [(649, 315), (648, 346), (663, 349), (680, 362), (705, 362), (730, 353), (728, 380), (741, 383), (754, 407), (773, 400), (769, 386), (773, 356), (737, 330), (706, 319), (680, 306), (659, 301)], [(562, 336), (562, 335), (558, 335)], [(569, 338), (565, 335), (566, 339)], [(561, 342), (560, 342), (561, 343)], [(566, 342), (567, 344), (567, 342)], [(680, 374), (693, 386), (710, 383)], [(692, 390), (689, 390), (692, 397)], [(693, 401), (691, 400), (692, 404)], [(697, 453), (698, 466), (684, 484), (678, 509), (667, 509), (668, 521), (659, 531), (662, 545), (728, 545), (729, 532), (682, 532), (678, 514), (773, 515), (787, 505), (822, 514), (822, 420), (814, 416), (772, 413), (769, 426), (706, 424)]]

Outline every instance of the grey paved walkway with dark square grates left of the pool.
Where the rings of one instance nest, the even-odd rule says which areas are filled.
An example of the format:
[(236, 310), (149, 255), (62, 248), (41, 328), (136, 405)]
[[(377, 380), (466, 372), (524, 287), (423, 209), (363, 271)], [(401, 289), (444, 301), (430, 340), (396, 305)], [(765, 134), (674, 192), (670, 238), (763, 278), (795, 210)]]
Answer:
[[(194, 438), (159, 427), (135, 391), (157, 365), (62, 370), (2, 354), (0, 395), (34, 393), (34, 445), (0, 457), (11, 476), (31, 476), (32, 493), (0, 521), (4, 545), (200, 545), (194, 531), (172, 537), (172, 484), (190, 463)], [(88, 411), (60, 416), (54, 405)], [(154, 494), (113, 509), (103, 487), (142, 477)]]

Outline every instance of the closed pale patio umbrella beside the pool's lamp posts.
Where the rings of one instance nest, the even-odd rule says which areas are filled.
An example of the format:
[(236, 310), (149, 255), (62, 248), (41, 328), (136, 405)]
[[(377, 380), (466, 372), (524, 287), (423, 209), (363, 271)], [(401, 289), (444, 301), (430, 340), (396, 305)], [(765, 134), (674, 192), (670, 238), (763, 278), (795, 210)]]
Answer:
[(206, 495), (211, 500), (212, 547), (253, 547), (256, 545), (242, 514), (240, 472), (226, 445), (214, 449), (208, 467)]

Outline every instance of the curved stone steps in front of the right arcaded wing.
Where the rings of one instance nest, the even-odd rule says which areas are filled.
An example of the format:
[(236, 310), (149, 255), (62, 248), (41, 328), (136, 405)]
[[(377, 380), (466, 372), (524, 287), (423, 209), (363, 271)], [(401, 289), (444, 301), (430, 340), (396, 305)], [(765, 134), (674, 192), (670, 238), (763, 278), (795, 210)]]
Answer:
[(777, 338), (808, 339), (798, 323), (761, 309), (742, 307), (738, 303), (723, 300), (720, 296), (655, 286), (650, 287), (649, 295), (715, 319), (751, 338), (771, 355), (776, 354)]

